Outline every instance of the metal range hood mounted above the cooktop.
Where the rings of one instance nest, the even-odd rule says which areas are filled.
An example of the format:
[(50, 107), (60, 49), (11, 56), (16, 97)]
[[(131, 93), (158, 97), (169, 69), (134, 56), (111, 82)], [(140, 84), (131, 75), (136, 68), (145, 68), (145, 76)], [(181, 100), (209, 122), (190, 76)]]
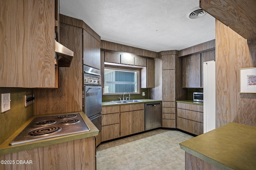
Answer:
[(55, 40), (55, 53), (59, 67), (70, 67), (74, 52)]

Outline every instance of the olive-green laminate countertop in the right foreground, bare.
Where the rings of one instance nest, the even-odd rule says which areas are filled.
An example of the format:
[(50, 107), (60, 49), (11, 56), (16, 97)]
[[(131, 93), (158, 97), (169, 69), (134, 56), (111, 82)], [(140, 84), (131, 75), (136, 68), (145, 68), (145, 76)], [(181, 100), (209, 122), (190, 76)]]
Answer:
[(180, 148), (222, 170), (255, 170), (256, 127), (229, 123), (180, 143)]

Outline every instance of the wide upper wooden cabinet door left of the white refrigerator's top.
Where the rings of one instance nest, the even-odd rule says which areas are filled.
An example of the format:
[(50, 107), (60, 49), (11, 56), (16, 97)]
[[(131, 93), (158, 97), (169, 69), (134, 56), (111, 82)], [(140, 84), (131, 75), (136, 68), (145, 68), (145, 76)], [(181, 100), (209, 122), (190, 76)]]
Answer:
[(182, 58), (182, 87), (201, 87), (201, 55), (191, 55)]

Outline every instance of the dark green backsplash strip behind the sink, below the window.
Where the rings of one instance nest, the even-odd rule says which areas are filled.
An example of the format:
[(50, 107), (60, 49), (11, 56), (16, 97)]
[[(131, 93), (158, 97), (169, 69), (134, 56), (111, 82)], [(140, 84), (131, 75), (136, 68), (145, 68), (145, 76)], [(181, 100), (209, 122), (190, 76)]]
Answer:
[[(145, 92), (145, 96), (142, 96), (142, 92)], [(124, 95), (124, 98), (128, 97), (128, 94), (126, 93)], [(118, 98), (123, 99), (123, 95), (103, 95), (102, 96), (102, 102), (109, 102), (112, 100), (120, 100)], [(148, 88), (141, 88), (140, 94), (131, 94), (130, 99), (148, 99)]]

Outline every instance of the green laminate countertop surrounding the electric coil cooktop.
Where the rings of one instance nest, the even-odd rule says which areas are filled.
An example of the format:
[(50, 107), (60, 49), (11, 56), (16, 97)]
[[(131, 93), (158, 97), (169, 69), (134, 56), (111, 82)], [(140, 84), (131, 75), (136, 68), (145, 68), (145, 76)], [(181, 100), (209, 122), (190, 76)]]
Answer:
[[(88, 127), (90, 128), (90, 131), (88, 132), (81, 132), (81, 133), (76, 133), (72, 135), (65, 135), (62, 137), (54, 137), (52, 139), (44, 139), (40, 141), (35, 141), (35, 142), (29, 142), (29, 143), (24, 143), (24, 144), (19, 144), (19, 145), (13, 145), (10, 146), (9, 143), (16, 137), (20, 132), (35, 118), (38, 116), (48, 116), (48, 115), (61, 115), (61, 114), (67, 114), (67, 113), (80, 113)], [(94, 124), (90, 121), (90, 119), (84, 114), (83, 111), (73, 111), (73, 112), (67, 112), (67, 113), (54, 113), (54, 114), (48, 114), (48, 115), (35, 115), (31, 117), (22, 127), (20, 127), (11, 137), (9, 137), (4, 143), (0, 145), (0, 155), (5, 155), (5, 154), (10, 154), (14, 152), (19, 152), (22, 150), (29, 150), (29, 149), (34, 149), (34, 148), (39, 148), (39, 147), (45, 147), (49, 145), (54, 145), (58, 143), (63, 143), (63, 142), (68, 142), (68, 141), (74, 141), (78, 139), (83, 139), (87, 137), (92, 137), (92, 136), (97, 136), (99, 133), (99, 130), (94, 126)]]

